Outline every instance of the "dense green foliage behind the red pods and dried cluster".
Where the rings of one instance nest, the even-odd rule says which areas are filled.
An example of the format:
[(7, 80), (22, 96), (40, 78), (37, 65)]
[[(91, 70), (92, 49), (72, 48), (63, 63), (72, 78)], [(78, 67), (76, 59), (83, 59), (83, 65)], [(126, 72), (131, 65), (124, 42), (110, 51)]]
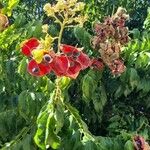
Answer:
[[(9, 15), (10, 26), (0, 33), (0, 148), (36, 150), (33, 137), (37, 116), (54, 90), (54, 77), (29, 75), (20, 43), (30, 37), (44, 37), (41, 27), (44, 23), (50, 24), (50, 33), (57, 34), (59, 27), (52, 24), (42, 10), (46, 2), (54, 1), (1, 2)], [(92, 52), (89, 38), (93, 35), (93, 22), (122, 6), (130, 14), (127, 26), (131, 41), (122, 53), (127, 69), (115, 77), (107, 68), (103, 72), (87, 69), (68, 83), (64, 97), (73, 106), (68, 105), (68, 110), (74, 117), (64, 113), (66, 119), (59, 118), (65, 124), (59, 133), (62, 137), (60, 150), (132, 150), (134, 135), (150, 141), (150, 11), (147, 11), (150, 2), (85, 0), (85, 3), (85, 12), (90, 16), (86, 30), (65, 30), (63, 43), (75, 45), (78, 42), (92, 57), (95, 52)], [(69, 81), (63, 82), (67, 85)], [(82, 138), (80, 131), (86, 132), (86, 125), (81, 118), (94, 139)]]

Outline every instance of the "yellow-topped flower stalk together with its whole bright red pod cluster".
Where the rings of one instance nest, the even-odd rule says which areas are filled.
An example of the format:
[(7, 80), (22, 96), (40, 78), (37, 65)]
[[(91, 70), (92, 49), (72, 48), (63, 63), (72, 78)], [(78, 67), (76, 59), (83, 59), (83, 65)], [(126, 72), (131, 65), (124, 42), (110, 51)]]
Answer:
[[(83, 48), (61, 43), (65, 27), (76, 22), (83, 25), (86, 20), (81, 15), (84, 3), (77, 0), (58, 0), (55, 5), (47, 3), (44, 10), (49, 17), (53, 17), (60, 25), (58, 37), (48, 34), (48, 25), (42, 26), (45, 39), (30, 38), (21, 44), (21, 50), (29, 58), (28, 72), (33, 76), (44, 76), (53, 72), (56, 76), (66, 76), (75, 79), (81, 70), (91, 65), (91, 60), (83, 52)], [(81, 19), (82, 18), (82, 19)], [(57, 40), (57, 52), (53, 48), (53, 42)]]

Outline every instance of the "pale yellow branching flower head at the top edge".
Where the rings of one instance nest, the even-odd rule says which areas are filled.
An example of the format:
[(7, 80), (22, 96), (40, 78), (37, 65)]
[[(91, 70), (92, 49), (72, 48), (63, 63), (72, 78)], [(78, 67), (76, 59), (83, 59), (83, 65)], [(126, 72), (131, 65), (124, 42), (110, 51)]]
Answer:
[[(47, 3), (44, 6), (44, 11), (47, 16), (55, 18), (55, 22), (70, 25), (71, 23), (77, 23), (83, 26), (87, 20), (87, 16), (81, 14), (84, 10), (85, 3), (77, 2), (78, 0), (57, 0), (55, 5)], [(63, 21), (62, 21), (63, 20)]]

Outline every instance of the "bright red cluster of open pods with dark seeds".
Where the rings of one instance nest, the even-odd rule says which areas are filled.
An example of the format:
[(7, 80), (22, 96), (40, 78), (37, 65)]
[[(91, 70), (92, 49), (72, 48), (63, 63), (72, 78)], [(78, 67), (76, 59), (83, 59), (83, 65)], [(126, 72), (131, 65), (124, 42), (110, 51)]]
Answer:
[[(81, 70), (90, 66), (91, 60), (82, 50), (62, 44), (61, 53), (53, 50), (43, 50), (36, 38), (25, 41), (22, 45), (22, 53), (31, 58), (28, 64), (28, 72), (33, 76), (44, 76), (53, 71), (57, 76), (67, 76), (75, 79)], [(40, 53), (37, 61), (33, 52)]]

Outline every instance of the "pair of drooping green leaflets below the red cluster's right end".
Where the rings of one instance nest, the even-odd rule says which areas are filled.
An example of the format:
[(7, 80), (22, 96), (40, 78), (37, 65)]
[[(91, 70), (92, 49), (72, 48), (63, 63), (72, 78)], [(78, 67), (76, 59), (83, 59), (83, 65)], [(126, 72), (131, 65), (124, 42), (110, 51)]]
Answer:
[(99, 71), (90, 70), (82, 80), (83, 100), (88, 103), (92, 101), (97, 113), (103, 112), (103, 108), (107, 102), (107, 95), (101, 81), (101, 75)]

